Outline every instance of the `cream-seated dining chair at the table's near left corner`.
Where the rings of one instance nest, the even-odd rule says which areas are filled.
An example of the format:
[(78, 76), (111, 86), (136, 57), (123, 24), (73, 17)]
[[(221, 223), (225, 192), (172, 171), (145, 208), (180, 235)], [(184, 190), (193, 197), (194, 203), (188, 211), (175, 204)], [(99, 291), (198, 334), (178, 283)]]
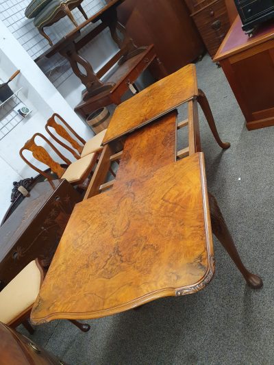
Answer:
[[(45, 268), (38, 259), (29, 262), (0, 292), (0, 322), (12, 328), (22, 324), (30, 334), (34, 333), (28, 318), (44, 279)], [(71, 322), (84, 332), (90, 329), (90, 325)]]

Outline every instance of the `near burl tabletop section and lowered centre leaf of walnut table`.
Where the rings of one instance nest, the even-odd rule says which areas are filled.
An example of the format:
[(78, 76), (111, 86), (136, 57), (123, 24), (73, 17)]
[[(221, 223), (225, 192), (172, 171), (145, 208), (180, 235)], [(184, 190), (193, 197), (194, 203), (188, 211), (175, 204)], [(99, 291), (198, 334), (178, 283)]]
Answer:
[[(112, 190), (76, 205), (33, 323), (107, 316), (208, 284), (214, 262), (203, 154), (175, 162), (175, 122), (168, 114), (148, 134), (130, 136)], [(168, 157), (155, 168), (153, 153), (160, 157), (164, 147)]]

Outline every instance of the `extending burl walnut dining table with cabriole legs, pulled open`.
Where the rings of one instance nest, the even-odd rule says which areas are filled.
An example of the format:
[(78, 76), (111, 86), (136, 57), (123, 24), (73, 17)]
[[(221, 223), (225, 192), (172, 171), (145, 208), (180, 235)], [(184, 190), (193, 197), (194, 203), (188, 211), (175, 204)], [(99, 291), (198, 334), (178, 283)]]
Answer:
[[(247, 284), (262, 286), (242, 264), (208, 193), (197, 101), (217, 142), (223, 148), (229, 144), (219, 138), (197, 89), (195, 66), (175, 74), (116, 108), (86, 199), (75, 205), (40, 288), (32, 323), (99, 318), (160, 297), (198, 292), (214, 275), (212, 233)], [(176, 108), (182, 103), (188, 119), (178, 122)], [(189, 146), (177, 151), (177, 131), (187, 126)], [(108, 171), (105, 156), (111, 160), (117, 138), (125, 140), (119, 170), (112, 187), (99, 194), (94, 185)]]

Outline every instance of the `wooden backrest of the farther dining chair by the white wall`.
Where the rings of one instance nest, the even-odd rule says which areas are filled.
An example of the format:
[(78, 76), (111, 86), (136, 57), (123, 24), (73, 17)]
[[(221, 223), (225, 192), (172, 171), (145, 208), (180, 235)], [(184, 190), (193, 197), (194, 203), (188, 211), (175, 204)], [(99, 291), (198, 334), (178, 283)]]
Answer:
[[(62, 124), (66, 127), (64, 127), (63, 125), (61, 125), (60, 123), (58, 123), (55, 119), (55, 117), (57, 117), (58, 119), (60, 119), (60, 121), (62, 122)], [(62, 142), (62, 140), (60, 140), (59, 138), (57, 138), (51, 131), (51, 128), (53, 128), (55, 130), (55, 133), (58, 134), (60, 137), (64, 138), (64, 140), (66, 140), (67, 142), (69, 142), (69, 144), (71, 145), (71, 147), (69, 147), (67, 144), (65, 144), (64, 142)], [(75, 130), (73, 128), (71, 128), (71, 126), (66, 123), (66, 121), (64, 121), (64, 119), (62, 118), (62, 116), (60, 116), (57, 113), (54, 113), (47, 121), (47, 124), (45, 125), (45, 129), (47, 131), (47, 133), (49, 134), (49, 136), (51, 136), (51, 138), (53, 138), (53, 140), (55, 140), (55, 142), (58, 142), (62, 147), (64, 147), (65, 149), (67, 149), (68, 151), (70, 151), (73, 156), (79, 160), (80, 155), (83, 151), (84, 148), (84, 144), (86, 144), (86, 141), (79, 136), (79, 134), (77, 134), (75, 132)], [(77, 140), (79, 142), (81, 142), (81, 144), (79, 144), (79, 142), (77, 140), (75, 140), (68, 132), (68, 130), (71, 131), (71, 133), (73, 134), (73, 136), (75, 136), (77, 138)], [(76, 151), (77, 152), (76, 152)]]

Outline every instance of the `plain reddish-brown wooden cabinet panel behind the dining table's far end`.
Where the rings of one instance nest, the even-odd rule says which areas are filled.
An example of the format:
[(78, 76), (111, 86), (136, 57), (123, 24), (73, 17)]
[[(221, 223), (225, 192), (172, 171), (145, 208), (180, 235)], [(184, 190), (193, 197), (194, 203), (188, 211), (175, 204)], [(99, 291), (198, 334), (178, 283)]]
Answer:
[[(136, 45), (154, 45), (168, 73), (193, 62), (204, 51), (183, 0), (125, 0), (117, 12)], [(151, 67), (157, 77), (157, 64)]]

